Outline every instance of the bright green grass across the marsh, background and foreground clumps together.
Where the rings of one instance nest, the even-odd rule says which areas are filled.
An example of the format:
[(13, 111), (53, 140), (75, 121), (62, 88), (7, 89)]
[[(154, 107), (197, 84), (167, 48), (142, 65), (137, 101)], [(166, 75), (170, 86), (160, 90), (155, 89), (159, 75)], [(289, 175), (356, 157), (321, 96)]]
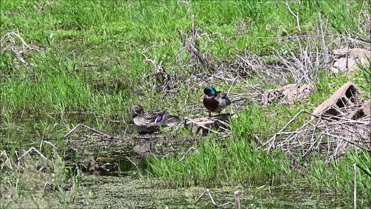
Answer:
[[(116, 133), (117, 130), (110, 129), (112, 121), (119, 121), (114, 127), (128, 127), (132, 123), (129, 110), (134, 104), (141, 104), (147, 110), (167, 108), (182, 118), (205, 116), (206, 112), (196, 112), (188, 106), (203, 107), (199, 97), (206, 85), (227, 92), (232, 82), (216, 78), (212, 83), (202, 79), (188, 82), (192, 75), (213, 73), (202, 65), (188, 65), (190, 55), (184, 51), (178, 53), (181, 42), (177, 29), (187, 34), (192, 29), (192, 16), (203, 37), (198, 40), (200, 53), (209, 55), (217, 66), (234, 63), (236, 55), (243, 55), (245, 51), (259, 57), (263, 64), (279, 66), (284, 65), (277, 53), (289, 59), (293, 58), (290, 52), (295, 56), (299, 54), (298, 39), (269, 37), (319, 34), (319, 38), (312, 37), (311, 41), (300, 39), (300, 44), (302, 48), (309, 46), (321, 52), (319, 13), (324, 27), (327, 17), (329, 20), (326, 45), (345, 30), (365, 40), (369, 36), (358, 29), (359, 24), (365, 25), (364, 15), (361, 19), (358, 15), (361, 10), (367, 12), (369, 1), (289, 1), (292, 12), (298, 14), (301, 31), (285, 1), (204, 0), (187, 4), (184, 1), (3, 0), (0, 4), (0, 38), (8, 32), (19, 31), (28, 44), (46, 48), (26, 53), (26, 61), (35, 64), (33, 67), (20, 64), (9, 51), (0, 54), (0, 152), (6, 151), (9, 156), (33, 146), (52, 158), (50, 144), (62, 155), (68, 146), (63, 135), (81, 121), (100, 131)], [(352, 43), (350, 45), (352, 47)], [(154, 75), (155, 68), (150, 62), (144, 62), (142, 55), (151, 46), (158, 47), (148, 49), (145, 55), (161, 62), (171, 80), (177, 78), (173, 89), (154, 87), (162, 80)], [(329, 46), (330, 55), (334, 47)], [(352, 80), (369, 92), (369, 69), (361, 67), (360, 72), (351, 76), (338, 74), (336, 77), (322, 67), (315, 69), (318, 74), (313, 78), (315, 93), (295, 105), (263, 107), (257, 101), (246, 100), (237, 108), (242, 111), (232, 121), (232, 132), (227, 138), (219, 141), (210, 135), (203, 141), (196, 140), (194, 146), (200, 154), (191, 151), (181, 162), (182, 156), (154, 157), (152, 174), (170, 187), (296, 182), (298, 171), (290, 167), (290, 159), (279, 150), (273, 154), (258, 151), (257, 142), (272, 137), (300, 110), (313, 111), (347, 81)], [(249, 84), (261, 84), (261, 91), (287, 84), (260, 69), (257, 71), (243, 79)], [(290, 82), (293, 77), (288, 73), (286, 79)], [(245, 86), (237, 81), (231, 92), (255, 93), (250, 88), (242, 89)], [(369, 99), (367, 95), (362, 97), (362, 100)], [(234, 107), (227, 109), (228, 112), (234, 110)], [(286, 131), (296, 130), (308, 119), (309, 116), (298, 118)], [(134, 140), (126, 132), (124, 135)], [(164, 135), (172, 133), (168, 131)], [(175, 138), (199, 139), (187, 128), (176, 132)], [(347, 170), (348, 166), (369, 159), (364, 154), (357, 157), (356, 152), (350, 153), (332, 164), (314, 161), (312, 173), (308, 175), (315, 179), (317, 187), (335, 188), (338, 194), (343, 191), (341, 195), (347, 196), (351, 193), (347, 191), (351, 188), (352, 173)], [(318, 171), (325, 178), (315, 173)], [(333, 174), (338, 174), (338, 179), (326, 184)], [(73, 189), (78, 191), (79, 177), (71, 180), (76, 183)], [(370, 188), (366, 180), (359, 171), (359, 195), (364, 199), (370, 195), (365, 192)], [(15, 187), (14, 191), (18, 189)], [(69, 199), (74, 201), (73, 195)]]

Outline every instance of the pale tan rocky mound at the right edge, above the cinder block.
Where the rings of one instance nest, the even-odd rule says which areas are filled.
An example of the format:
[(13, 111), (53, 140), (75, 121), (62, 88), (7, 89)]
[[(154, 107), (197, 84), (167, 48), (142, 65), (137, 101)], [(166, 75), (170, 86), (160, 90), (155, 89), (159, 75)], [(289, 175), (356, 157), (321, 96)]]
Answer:
[(371, 58), (371, 52), (365, 49), (348, 49), (343, 47), (334, 51), (334, 64), (332, 73), (352, 72), (358, 70), (358, 63), (361, 65), (370, 64), (368, 59)]

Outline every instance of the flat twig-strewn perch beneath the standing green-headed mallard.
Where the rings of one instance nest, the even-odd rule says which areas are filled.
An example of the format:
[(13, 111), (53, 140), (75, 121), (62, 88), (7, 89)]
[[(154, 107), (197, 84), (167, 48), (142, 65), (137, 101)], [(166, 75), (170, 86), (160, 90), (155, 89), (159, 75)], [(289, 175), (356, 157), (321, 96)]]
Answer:
[(195, 118), (195, 119), (186, 119), (185, 120), (185, 126), (190, 126), (191, 128), (197, 128), (198, 134), (205, 135), (209, 131), (220, 134), (220, 135), (226, 135), (226, 132), (216, 132), (212, 130), (212, 127), (215, 128), (221, 128), (224, 130), (227, 130), (229, 128), (230, 120), (237, 118), (236, 113), (223, 113), (220, 115), (214, 115), (205, 118)]

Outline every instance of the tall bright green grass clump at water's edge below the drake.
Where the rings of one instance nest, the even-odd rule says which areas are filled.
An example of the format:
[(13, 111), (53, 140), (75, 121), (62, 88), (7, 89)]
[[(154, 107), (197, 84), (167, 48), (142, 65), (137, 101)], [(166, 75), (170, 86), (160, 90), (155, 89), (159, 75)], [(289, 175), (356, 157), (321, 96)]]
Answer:
[[(201, 185), (222, 186), (226, 182), (243, 185), (279, 184), (292, 180), (295, 172), (289, 159), (279, 151), (273, 155), (258, 151), (255, 142), (231, 139), (225, 147), (213, 137), (197, 142), (199, 153), (181, 157), (159, 158), (148, 162), (152, 175), (168, 187)], [(273, 180), (274, 179), (274, 180)]]

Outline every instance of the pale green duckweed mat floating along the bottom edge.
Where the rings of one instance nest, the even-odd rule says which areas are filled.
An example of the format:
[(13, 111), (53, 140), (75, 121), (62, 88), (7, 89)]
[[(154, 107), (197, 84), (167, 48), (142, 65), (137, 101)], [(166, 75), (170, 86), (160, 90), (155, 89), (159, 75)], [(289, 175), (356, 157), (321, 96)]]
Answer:
[[(138, 180), (133, 177), (86, 176), (82, 180), (83, 190), (76, 197), (75, 203), (65, 206), (77, 208), (86, 205), (89, 208), (189, 208), (194, 197), (199, 196), (204, 187), (181, 189), (161, 189), (158, 180)], [(268, 208), (334, 208), (347, 205), (339, 200), (328, 201), (333, 196), (314, 193), (308, 188), (290, 190), (284, 185), (279, 187), (260, 187), (258, 189), (242, 189), (242, 187), (224, 186), (211, 189), (215, 202), (219, 205), (234, 202), (233, 192), (240, 190), (242, 205)], [(68, 193), (68, 192), (67, 192)], [(326, 199), (324, 198), (326, 197)], [(292, 201), (287, 201), (288, 199)], [(61, 208), (57, 196), (40, 200), (40, 205), (47, 208)], [(17, 203), (2, 199), (2, 208), (34, 208), (29, 197)], [(203, 197), (196, 208), (213, 208), (208, 196)]]

